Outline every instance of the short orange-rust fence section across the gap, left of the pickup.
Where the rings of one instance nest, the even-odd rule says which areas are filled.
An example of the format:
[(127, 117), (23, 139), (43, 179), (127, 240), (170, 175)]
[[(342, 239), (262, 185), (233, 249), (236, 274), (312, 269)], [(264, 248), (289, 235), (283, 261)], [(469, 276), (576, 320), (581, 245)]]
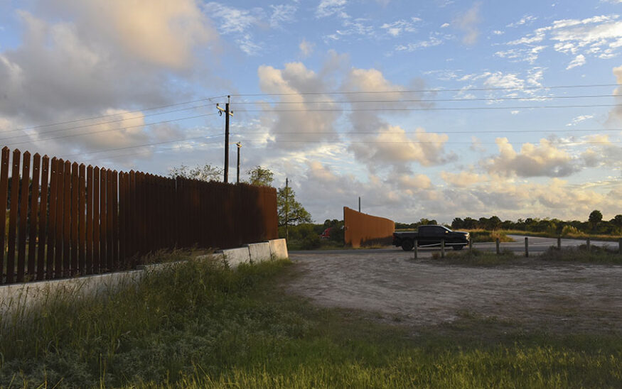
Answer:
[(360, 247), (369, 244), (390, 244), (395, 232), (395, 222), (354, 209), (343, 207), (343, 226), (345, 244)]

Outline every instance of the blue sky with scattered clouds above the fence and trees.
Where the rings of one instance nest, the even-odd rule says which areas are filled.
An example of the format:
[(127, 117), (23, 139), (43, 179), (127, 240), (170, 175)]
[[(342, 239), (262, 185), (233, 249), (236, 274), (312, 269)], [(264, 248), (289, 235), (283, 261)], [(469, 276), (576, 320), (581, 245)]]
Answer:
[(316, 221), (359, 196), (396, 221), (610, 219), (621, 14), (617, 0), (5, 0), (0, 137), (121, 170), (222, 166), (215, 104), (231, 95), (242, 177), (289, 177)]

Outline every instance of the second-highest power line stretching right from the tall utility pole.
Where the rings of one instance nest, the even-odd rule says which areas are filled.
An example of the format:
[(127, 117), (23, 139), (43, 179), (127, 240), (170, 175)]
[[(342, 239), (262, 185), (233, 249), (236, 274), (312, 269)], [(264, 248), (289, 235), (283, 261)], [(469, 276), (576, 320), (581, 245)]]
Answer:
[(419, 102), (495, 102), (506, 100), (552, 100), (552, 99), (593, 99), (598, 97), (622, 97), (622, 94), (586, 94), (583, 96), (542, 96), (542, 97), (481, 97), (459, 99), (399, 99), (399, 100), (327, 100), (323, 102), (235, 102), (232, 104), (358, 104), (358, 103), (419, 103)]

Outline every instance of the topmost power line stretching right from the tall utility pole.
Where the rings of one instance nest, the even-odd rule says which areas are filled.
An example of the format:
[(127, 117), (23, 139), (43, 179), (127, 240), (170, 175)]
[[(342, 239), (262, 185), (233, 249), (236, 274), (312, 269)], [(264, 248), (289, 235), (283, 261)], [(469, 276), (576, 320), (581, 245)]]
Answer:
[(537, 90), (537, 89), (571, 89), (571, 88), (595, 88), (595, 87), (619, 87), (620, 84), (585, 84), (585, 85), (554, 85), (550, 87), (488, 87), (488, 88), (462, 88), (462, 89), (396, 89), (390, 91), (353, 91), (353, 92), (283, 92), (283, 93), (240, 93), (231, 94), (232, 97), (252, 97), (252, 96), (291, 96), (291, 95), (313, 95), (313, 94), (377, 94), (377, 93), (427, 93), (427, 92), (473, 92), (473, 91), (495, 91), (495, 90)]

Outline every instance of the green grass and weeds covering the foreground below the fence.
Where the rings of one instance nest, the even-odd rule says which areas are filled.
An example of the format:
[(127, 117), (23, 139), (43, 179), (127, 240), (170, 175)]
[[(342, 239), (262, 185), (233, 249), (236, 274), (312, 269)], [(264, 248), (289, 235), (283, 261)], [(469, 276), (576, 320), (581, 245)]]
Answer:
[[(168, 260), (187, 258), (173, 256)], [(108, 295), (50, 298), (31, 316), (0, 327), (0, 385), (622, 385), (620, 334), (530, 332), (473, 312), (456, 312), (459, 319), (434, 327), (382, 324), (371, 314), (323, 309), (284, 293), (296, 274), (288, 261), (235, 271), (218, 261), (189, 261)]]

